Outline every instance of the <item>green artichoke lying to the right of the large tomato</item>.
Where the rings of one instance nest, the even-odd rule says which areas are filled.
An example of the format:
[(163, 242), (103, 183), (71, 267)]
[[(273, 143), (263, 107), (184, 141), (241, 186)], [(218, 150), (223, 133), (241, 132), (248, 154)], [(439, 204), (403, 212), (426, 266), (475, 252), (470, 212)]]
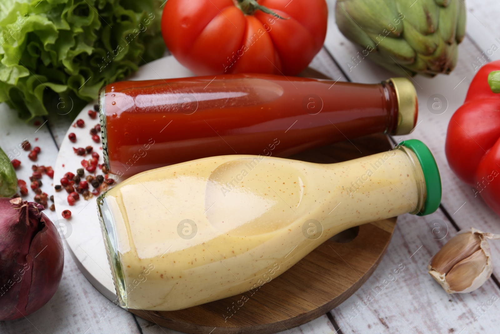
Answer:
[[(399, 75), (448, 74), (465, 35), (461, 0), (338, 0), (337, 26), (367, 57)], [(352, 67), (349, 68), (352, 69)]]

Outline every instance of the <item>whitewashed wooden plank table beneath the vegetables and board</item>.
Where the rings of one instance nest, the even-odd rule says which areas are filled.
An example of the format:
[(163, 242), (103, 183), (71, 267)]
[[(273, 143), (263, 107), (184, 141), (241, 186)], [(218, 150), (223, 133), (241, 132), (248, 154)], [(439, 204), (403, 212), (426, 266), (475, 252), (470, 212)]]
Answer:
[[(329, 0), (330, 17), (325, 47), (314, 58), (311, 67), (334, 80), (374, 83), (391, 76), (368, 60), (349, 71), (347, 62), (356, 54), (354, 47), (338, 32), (334, 22), (334, 0)], [(413, 78), (419, 98), (418, 126), (408, 136), (425, 142), (437, 160), (441, 171), (443, 197), (439, 210), (432, 215), (400, 216), (387, 253), (366, 283), (341, 305), (323, 316), (296, 328), (290, 333), (498, 333), (500, 303), (484, 306), (493, 295), (500, 297), (500, 242), (491, 243), (493, 275), (478, 290), (464, 295), (447, 295), (427, 274), (430, 257), (458, 230), (474, 226), (500, 233), (500, 218), (490, 210), (469, 186), (460, 182), (450, 171), (444, 155), (444, 139), (448, 121), (463, 102), (468, 84), (473, 78), (471, 62), (482, 57), (492, 44), (500, 46), (500, 3), (495, 0), (467, 0), (467, 35), (459, 47), (456, 69), (449, 75), (434, 79)], [(496, 52), (490, 60), (500, 59)], [(393, 76), (393, 75), (392, 75)], [(447, 110), (435, 115), (427, 109), (427, 99), (441, 94)], [(0, 105), (0, 147), (7, 153), (27, 138), (40, 146), (38, 164), (53, 165), (71, 120), (56, 115), (24, 123), (5, 104)], [(40, 126), (41, 125), (41, 126)], [(35, 141), (37, 138), (37, 141)], [(23, 162), (18, 171), (21, 179), (30, 175), (30, 161), (20, 151)], [(50, 180), (44, 176), (42, 189), (53, 193)], [(46, 210), (53, 220), (57, 218)], [(438, 225), (435, 225), (435, 224)], [(439, 230), (434, 229), (439, 226)], [(432, 229), (434, 229), (432, 231)], [(380, 284), (399, 264), (404, 265), (397, 280), (375, 295), (372, 288)], [(374, 298), (366, 307), (359, 306), (366, 296)], [(359, 306), (359, 307), (358, 307)], [(482, 307), (482, 311), (478, 311)], [(283, 328), (285, 329), (285, 328)], [(0, 321), (0, 333), (174, 333), (155, 323), (138, 318), (113, 307), (80, 273), (68, 252), (65, 252), (64, 272), (53, 298), (26, 318)]]

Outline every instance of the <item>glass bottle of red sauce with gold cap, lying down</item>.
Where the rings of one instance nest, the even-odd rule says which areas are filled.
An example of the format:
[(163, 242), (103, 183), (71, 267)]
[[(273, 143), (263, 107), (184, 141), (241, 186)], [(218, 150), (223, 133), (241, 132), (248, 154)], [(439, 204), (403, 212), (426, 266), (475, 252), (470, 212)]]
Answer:
[(285, 157), (417, 119), (411, 82), (366, 85), (263, 74), (122, 81), (99, 94), (104, 162), (139, 172), (209, 156)]

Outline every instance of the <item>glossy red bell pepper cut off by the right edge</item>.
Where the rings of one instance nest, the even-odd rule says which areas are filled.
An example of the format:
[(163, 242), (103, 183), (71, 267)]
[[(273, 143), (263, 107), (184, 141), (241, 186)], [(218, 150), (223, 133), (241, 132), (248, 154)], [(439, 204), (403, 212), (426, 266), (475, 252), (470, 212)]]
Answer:
[(484, 65), (446, 134), (451, 170), (500, 215), (500, 61)]

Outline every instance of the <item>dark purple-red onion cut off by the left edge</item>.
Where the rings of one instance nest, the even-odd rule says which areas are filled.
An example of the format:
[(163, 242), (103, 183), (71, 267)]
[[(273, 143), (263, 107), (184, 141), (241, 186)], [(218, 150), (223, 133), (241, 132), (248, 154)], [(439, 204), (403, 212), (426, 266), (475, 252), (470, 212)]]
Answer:
[(43, 206), (0, 198), (0, 320), (28, 315), (53, 296), (64, 251)]

